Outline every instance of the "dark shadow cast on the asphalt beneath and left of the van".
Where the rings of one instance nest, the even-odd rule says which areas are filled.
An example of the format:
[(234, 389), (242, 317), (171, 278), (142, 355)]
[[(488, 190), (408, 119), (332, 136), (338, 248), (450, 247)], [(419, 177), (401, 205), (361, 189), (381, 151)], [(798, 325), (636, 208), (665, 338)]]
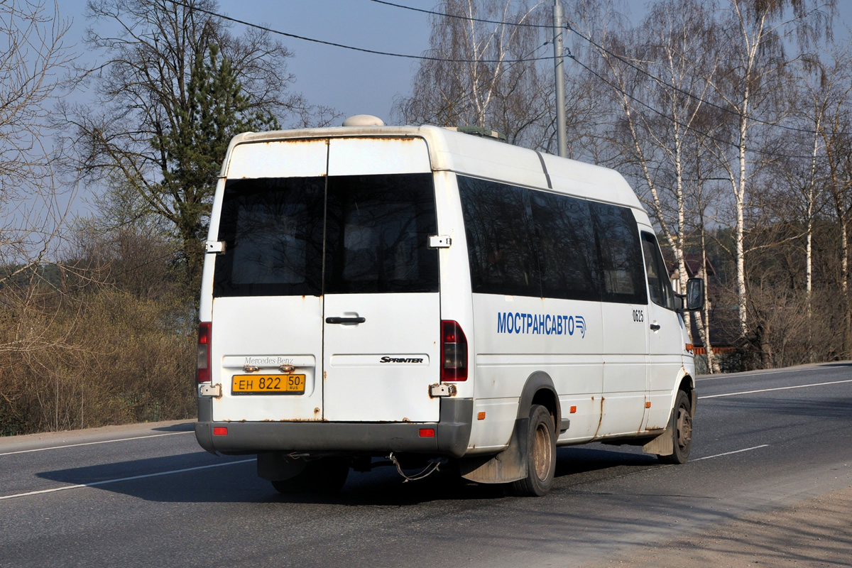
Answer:
[[(476, 484), (447, 466), (425, 479), (406, 481), (394, 468), (350, 472), (343, 491), (328, 495), (280, 494), (256, 476), (254, 456), (216, 457), (206, 452), (111, 462), (38, 473), (60, 485), (87, 485), (154, 502), (291, 502), (406, 506), (450, 499), (492, 500), (512, 496), (506, 485)], [(653, 467), (653, 456), (617, 450), (567, 448), (557, 451), (556, 484), (573, 485)], [(416, 472), (406, 472), (411, 475)]]

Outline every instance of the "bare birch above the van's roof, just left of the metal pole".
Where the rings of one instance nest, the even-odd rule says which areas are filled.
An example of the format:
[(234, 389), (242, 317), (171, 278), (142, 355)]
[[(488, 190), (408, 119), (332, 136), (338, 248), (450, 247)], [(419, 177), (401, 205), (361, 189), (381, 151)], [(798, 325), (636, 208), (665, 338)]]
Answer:
[(442, 0), (429, 59), (394, 113), (404, 123), (478, 126), (513, 144), (545, 146), (555, 114), (545, 46), (549, 8), (544, 0)]

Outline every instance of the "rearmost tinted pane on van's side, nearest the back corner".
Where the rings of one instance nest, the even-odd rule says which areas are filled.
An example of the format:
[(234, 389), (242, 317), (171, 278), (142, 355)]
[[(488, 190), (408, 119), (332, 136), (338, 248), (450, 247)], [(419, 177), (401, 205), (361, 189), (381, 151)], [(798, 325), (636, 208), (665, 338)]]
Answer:
[(540, 297), (527, 190), (459, 175), (458, 192), (472, 290)]

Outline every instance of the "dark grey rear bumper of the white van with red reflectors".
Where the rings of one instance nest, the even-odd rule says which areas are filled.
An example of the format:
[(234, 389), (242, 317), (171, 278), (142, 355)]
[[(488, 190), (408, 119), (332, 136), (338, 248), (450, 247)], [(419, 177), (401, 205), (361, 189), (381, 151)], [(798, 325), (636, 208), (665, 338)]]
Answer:
[[(199, 397), (195, 438), (223, 454), (263, 451), (400, 452), (461, 457), (468, 449), (473, 399), (441, 399), (439, 422), (213, 422), (212, 400)], [(214, 427), (227, 435), (214, 436)], [(422, 438), (422, 428), (435, 437)]]

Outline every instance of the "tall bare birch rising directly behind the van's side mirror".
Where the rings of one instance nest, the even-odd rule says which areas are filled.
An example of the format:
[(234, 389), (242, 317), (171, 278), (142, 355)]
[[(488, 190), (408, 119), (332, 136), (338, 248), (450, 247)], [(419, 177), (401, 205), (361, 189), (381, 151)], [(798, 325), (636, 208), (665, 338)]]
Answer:
[[(696, 225), (688, 221), (688, 201), (698, 201), (694, 194), (707, 175), (699, 169), (700, 149), (718, 128), (708, 119), (715, 109), (705, 105), (718, 66), (714, 52), (706, 49), (713, 43), (714, 23), (697, 0), (655, 3), (640, 26), (610, 33), (591, 54), (620, 113), (613, 131), (619, 162), (636, 179), (672, 252), (681, 290), (688, 279), (688, 226)], [(689, 328), (688, 315), (686, 321)], [(709, 322), (699, 318), (697, 324), (708, 365), (718, 370)]]

